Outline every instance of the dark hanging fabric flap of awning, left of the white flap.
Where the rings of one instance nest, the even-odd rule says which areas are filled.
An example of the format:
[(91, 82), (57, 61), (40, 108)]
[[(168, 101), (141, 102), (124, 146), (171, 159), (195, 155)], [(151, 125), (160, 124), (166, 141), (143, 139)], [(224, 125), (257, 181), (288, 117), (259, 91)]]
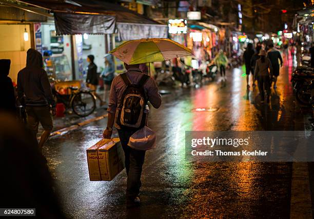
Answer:
[(57, 35), (63, 34), (112, 34), (115, 16), (95, 14), (54, 13)]

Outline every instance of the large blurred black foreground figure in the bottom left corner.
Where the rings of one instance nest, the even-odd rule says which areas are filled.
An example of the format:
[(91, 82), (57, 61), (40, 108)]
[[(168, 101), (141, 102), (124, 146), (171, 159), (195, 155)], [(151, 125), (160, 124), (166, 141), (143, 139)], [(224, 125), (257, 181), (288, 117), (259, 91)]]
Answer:
[(12, 114), (0, 114), (1, 208), (35, 208), (37, 218), (65, 218), (36, 140)]

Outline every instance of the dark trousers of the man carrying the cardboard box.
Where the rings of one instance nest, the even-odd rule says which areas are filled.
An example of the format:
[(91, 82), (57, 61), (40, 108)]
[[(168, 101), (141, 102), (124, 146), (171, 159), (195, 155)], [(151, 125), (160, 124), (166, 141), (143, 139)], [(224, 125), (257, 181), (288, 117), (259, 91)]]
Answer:
[(128, 175), (126, 196), (127, 200), (133, 201), (136, 196), (140, 193), (140, 188), (142, 186), (141, 174), (142, 167), (145, 160), (145, 152), (135, 150), (128, 146), (130, 136), (135, 131), (129, 130), (118, 130), (121, 145), (125, 155), (125, 169)]

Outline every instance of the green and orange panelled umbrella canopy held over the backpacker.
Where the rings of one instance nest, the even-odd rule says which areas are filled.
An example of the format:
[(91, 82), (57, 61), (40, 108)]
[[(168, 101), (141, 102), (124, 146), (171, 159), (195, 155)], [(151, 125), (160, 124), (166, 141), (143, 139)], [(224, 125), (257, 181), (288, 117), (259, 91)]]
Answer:
[(165, 38), (128, 41), (110, 51), (128, 65), (152, 63), (192, 55), (190, 49)]

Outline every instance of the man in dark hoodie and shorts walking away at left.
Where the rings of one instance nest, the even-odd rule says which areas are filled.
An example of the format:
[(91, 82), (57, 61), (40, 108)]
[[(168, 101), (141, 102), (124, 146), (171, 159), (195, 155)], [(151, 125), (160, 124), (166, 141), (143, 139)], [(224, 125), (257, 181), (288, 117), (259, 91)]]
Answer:
[(25, 104), (27, 125), (36, 138), (39, 123), (44, 132), (38, 144), (42, 150), (53, 128), (52, 114), (55, 114), (55, 102), (52, 97), (48, 76), (43, 67), (41, 53), (34, 49), (27, 51), (26, 67), (17, 75), (17, 96), (20, 103)]

